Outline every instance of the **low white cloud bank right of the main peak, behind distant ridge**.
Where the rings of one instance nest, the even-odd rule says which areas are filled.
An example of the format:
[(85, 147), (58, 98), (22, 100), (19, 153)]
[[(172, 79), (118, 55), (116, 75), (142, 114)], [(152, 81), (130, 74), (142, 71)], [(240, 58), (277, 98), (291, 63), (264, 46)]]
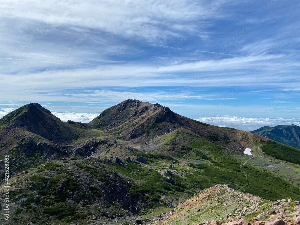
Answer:
[(240, 116), (214, 116), (200, 117), (197, 119), (203, 123), (219, 127), (231, 127), (243, 131), (254, 131), (264, 126), (274, 127), (277, 125), (297, 125), (300, 126), (300, 119), (293, 118), (255, 118), (255, 117), (240, 117)]

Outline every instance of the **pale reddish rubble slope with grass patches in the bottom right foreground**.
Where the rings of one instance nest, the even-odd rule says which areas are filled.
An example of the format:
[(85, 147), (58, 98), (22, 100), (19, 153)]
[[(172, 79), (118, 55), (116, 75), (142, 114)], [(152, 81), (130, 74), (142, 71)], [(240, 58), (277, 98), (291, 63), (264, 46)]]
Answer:
[(300, 224), (299, 203), (292, 199), (266, 201), (234, 190), (230, 185), (217, 184), (193, 199), (179, 203), (155, 224)]

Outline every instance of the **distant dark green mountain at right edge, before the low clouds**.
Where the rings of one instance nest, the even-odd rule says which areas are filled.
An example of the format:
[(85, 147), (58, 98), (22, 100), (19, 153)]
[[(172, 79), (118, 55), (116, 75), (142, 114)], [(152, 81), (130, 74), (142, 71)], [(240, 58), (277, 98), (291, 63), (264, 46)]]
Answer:
[(278, 125), (276, 127), (266, 126), (251, 131), (251, 133), (300, 149), (300, 127), (296, 125)]

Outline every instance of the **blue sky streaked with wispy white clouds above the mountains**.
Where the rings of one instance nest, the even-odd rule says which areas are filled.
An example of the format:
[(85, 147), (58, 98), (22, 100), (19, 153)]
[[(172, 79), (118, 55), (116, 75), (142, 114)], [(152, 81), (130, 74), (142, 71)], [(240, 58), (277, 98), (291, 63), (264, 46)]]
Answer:
[(211, 123), (297, 122), (299, 6), (1, 1), (0, 108), (38, 102), (53, 112), (94, 115), (138, 99)]

